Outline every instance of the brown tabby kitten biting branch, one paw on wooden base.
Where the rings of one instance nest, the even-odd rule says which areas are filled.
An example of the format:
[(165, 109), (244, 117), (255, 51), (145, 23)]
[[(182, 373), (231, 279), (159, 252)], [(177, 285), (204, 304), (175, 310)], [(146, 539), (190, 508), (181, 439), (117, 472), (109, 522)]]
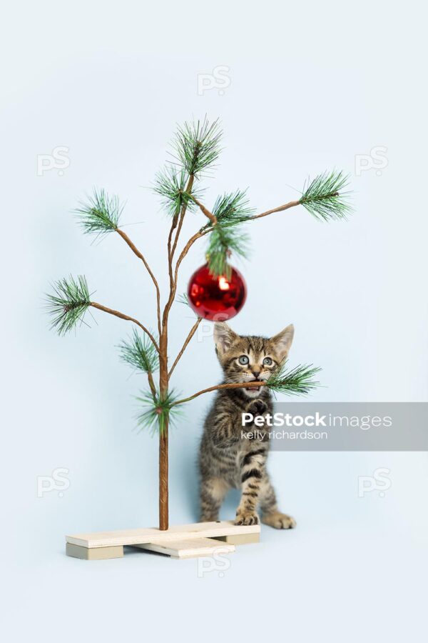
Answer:
[[(266, 380), (287, 357), (294, 327), (287, 326), (271, 339), (240, 337), (225, 322), (214, 326), (215, 351), (225, 374), (224, 382)], [(275, 491), (266, 470), (269, 439), (246, 439), (241, 432), (243, 412), (255, 416), (273, 412), (272, 395), (267, 387), (220, 389), (205, 420), (200, 444), (201, 521), (218, 520), (225, 494), (231, 487), (241, 488), (242, 496), (235, 524), (262, 522), (276, 529), (291, 529), (292, 517), (277, 509)], [(263, 429), (260, 429), (263, 432)]]

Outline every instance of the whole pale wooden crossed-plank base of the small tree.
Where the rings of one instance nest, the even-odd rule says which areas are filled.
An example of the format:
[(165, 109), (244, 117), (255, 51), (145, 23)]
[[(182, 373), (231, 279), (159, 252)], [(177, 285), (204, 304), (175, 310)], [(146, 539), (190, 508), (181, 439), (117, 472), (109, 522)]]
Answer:
[(123, 547), (131, 546), (182, 559), (229, 554), (235, 551), (235, 544), (259, 540), (259, 524), (197, 522), (170, 527), (166, 532), (150, 527), (66, 536), (66, 554), (84, 560), (122, 558)]

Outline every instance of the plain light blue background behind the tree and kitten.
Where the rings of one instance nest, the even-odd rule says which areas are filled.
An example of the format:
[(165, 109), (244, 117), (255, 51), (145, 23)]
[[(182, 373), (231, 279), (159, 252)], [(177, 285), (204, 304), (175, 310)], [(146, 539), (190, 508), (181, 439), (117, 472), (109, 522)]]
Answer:
[[(8, 641), (266, 637), (419, 642), (427, 574), (427, 456), (275, 453), (270, 469), (295, 531), (263, 529), (230, 569), (198, 577), (195, 560), (138, 552), (85, 563), (63, 534), (157, 522), (157, 444), (134, 430), (143, 379), (118, 362), (130, 327), (49, 332), (49, 281), (83, 273), (96, 299), (154, 326), (153, 289), (121, 239), (90, 244), (70, 211), (93, 185), (127, 200), (123, 223), (165, 279), (168, 220), (145, 189), (175, 123), (220, 116), (225, 151), (206, 202), (249, 186), (261, 209), (297, 195), (308, 174), (352, 174), (355, 216), (322, 225), (293, 209), (255, 222), (240, 264), (248, 301), (232, 326), (274, 334), (293, 322), (291, 364), (323, 368), (312, 400), (427, 399), (427, 113), (419, 3), (16, 2), (2, 20), (2, 514)], [(230, 85), (198, 95), (198, 74)], [(36, 156), (69, 148), (70, 165), (37, 176)], [(355, 176), (355, 155), (387, 165)], [(293, 186), (293, 187), (292, 187)], [(200, 226), (188, 216), (183, 239)], [(183, 261), (179, 291), (203, 262)], [(193, 323), (171, 316), (174, 356)], [(218, 382), (210, 337), (194, 341), (174, 386)], [(170, 522), (197, 518), (200, 397), (170, 438)], [(36, 497), (36, 479), (70, 486)], [(357, 495), (358, 477), (391, 486)], [(233, 518), (236, 497), (223, 509)], [(4, 604), (4, 599), (3, 599)]]

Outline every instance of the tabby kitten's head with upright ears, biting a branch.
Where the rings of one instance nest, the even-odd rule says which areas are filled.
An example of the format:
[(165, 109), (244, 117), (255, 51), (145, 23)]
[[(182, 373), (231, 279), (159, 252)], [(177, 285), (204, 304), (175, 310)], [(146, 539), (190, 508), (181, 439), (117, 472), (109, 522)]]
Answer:
[[(265, 337), (240, 337), (225, 321), (214, 324), (215, 352), (225, 374), (225, 382), (265, 382), (288, 355), (294, 326)], [(261, 390), (260, 390), (261, 389)], [(260, 397), (266, 387), (240, 389), (247, 397)]]

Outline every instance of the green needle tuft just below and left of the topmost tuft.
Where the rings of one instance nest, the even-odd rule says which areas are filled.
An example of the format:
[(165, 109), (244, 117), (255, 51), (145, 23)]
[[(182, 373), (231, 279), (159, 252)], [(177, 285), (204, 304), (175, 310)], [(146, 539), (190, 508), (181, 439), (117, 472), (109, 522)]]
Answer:
[[(188, 174), (185, 169), (177, 171), (167, 166), (156, 174), (153, 191), (162, 197), (162, 205), (171, 216), (177, 215), (183, 205), (187, 206), (189, 211), (195, 211), (198, 207), (185, 192), (187, 183)], [(203, 191), (193, 189), (192, 194), (200, 199)]]

